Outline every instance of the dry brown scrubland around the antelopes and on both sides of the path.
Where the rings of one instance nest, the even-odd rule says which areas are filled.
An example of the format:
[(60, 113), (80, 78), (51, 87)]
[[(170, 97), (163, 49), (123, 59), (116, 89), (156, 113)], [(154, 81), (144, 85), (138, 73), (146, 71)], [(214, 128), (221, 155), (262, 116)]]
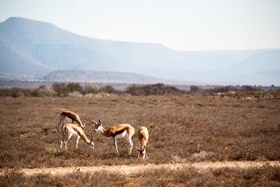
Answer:
[[(217, 95), (0, 97), (0, 168), (280, 160), (279, 101), (279, 97), (242, 99)], [(62, 109), (78, 113), (80, 120), (87, 123), (85, 134), (89, 139), (93, 137), (94, 151), (82, 139), (76, 149), (73, 138), (67, 144), (68, 151), (60, 151), (62, 132), (57, 132), (57, 123)], [(114, 147), (113, 154), (110, 155), (109, 139), (93, 132), (91, 119), (100, 119), (104, 127), (129, 123), (137, 130), (141, 126), (146, 126), (150, 134), (146, 148), (148, 160), (137, 158), (136, 148), (132, 150), (132, 156), (127, 158), (129, 144), (126, 139), (118, 139), (120, 155), (116, 154)], [(138, 146), (137, 136), (134, 135), (132, 140), (134, 146)], [(186, 172), (187, 170), (192, 172)], [(165, 180), (155, 183), (157, 186), (165, 186), (172, 180), (176, 183), (186, 183), (184, 180), (193, 178), (193, 172), (197, 173), (192, 168), (186, 171), (178, 171), (178, 174), (170, 175), (168, 170), (165, 172), (155, 170), (139, 174), (137, 179), (139, 177), (147, 179), (158, 173)], [(266, 176), (265, 171), (270, 171), (272, 174)], [(96, 174), (96, 176), (104, 176), (105, 179), (110, 178), (109, 181), (113, 180), (111, 186), (115, 184), (129, 186), (130, 180), (127, 176), (111, 175), (114, 174), (102, 172)], [(253, 177), (249, 179), (262, 176), (260, 183), (257, 184), (262, 184), (262, 179), (272, 179), (277, 181), (278, 185), (280, 182), (279, 167), (268, 166), (242, 172), (238, 169), (223, 171), (216, 169), (208, 174), (198, 174), (197, 180), (208, 181), (214, 177), (218, 181), (209, 181), (209, 184), (216, 186), (216, 183), (221, 183), (223, 179), (226, 184), (228, 178), (235, 179), (243, 175)], [(21, 174), (12, 173), (6, 176), (4, 181), (13, 181), (13, 178), (23, 179), (23, 177)], [(59, 177), (38, 175), (35, 179), (25, 178), (25, 180), (31, 183), (36, 183), (37, 179), (47, 180), (48, 183), (45, 184), (50, 186), (59, 186), (53, 181), (62, 181), (61, 183), (64, 184), (68, 182), (65, 181), (67, 178), (58, 179)], [(92, 174), (85, 176), (73, 174), (74, 181), (81, 179), (96, 180), (92, 178)], [(241, 185), (246, 185), (242, 180), (239, 182)], [(151, 185), (145, 180), (139, 183)], [(201, 183), (190, 183), (190, 185), (195, 184)], [(76, 185), (78, 186), (78, 182)], [(0, 186), (5, 186), (5, 183)]]

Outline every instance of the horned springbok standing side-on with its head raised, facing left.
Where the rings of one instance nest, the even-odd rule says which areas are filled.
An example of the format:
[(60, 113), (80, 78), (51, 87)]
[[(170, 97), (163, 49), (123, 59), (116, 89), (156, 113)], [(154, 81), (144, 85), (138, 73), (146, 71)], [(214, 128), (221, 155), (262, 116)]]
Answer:
[(110, 141), (110, 153), (112, 151), (112, 141), (114, 141), (118, 153), (117, 139), (127, 137), (127, 140), (130, 142), (130, 154), (131, 154), (132, 146), (133, 146), (132, 136), (134, 134), (134, 127), (132, 127), (132, 125), (121, 124), (121, 125), (109, 127), (109, 129), (104, 129), (100, 120), (98, 120), (98, 123), (96, 123), (94, 120), (92, 121), (95, 124), (94, 132), (100, 131), (101, 134), (104, 135), (105, 137), (112, 137)]

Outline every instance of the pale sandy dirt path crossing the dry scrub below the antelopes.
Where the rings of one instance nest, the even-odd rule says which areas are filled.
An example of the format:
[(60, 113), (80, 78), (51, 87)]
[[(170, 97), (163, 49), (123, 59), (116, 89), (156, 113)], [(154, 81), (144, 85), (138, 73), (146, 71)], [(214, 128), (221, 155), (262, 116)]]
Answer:
[[(262, 167), (264, 165), (272, 165), (280, 167), (280, 161), (266, 161), (266, 162), (187, 162), (187, 163), (177, 163), (177, 164), (146, 164), (146, 165), (113, 165), (113, 166), (90, 166), (90, 167), (53, 167), (53, 168), (35, 168), (35, 169), (20, 169), (18, 172), (22, 172), (26, 175), (33, 174), (69, 174), (71, 172), (94, 172), (94, 171), (107, 171), (107, 172), (118, 172), (123, 174), (133, 174), (148, 169), (156, 169), (160, 167), (165, 167), (169, 169), (181, 169), (183, 167), (195, 167), (200, 170), (210, 169), (210, 168), (220, 168), (220, 167), (239, 167), (239, 168), (249, 168), (249, 167)], [(7, 169), (1, 169), (0, 175), (5, 174)]]

